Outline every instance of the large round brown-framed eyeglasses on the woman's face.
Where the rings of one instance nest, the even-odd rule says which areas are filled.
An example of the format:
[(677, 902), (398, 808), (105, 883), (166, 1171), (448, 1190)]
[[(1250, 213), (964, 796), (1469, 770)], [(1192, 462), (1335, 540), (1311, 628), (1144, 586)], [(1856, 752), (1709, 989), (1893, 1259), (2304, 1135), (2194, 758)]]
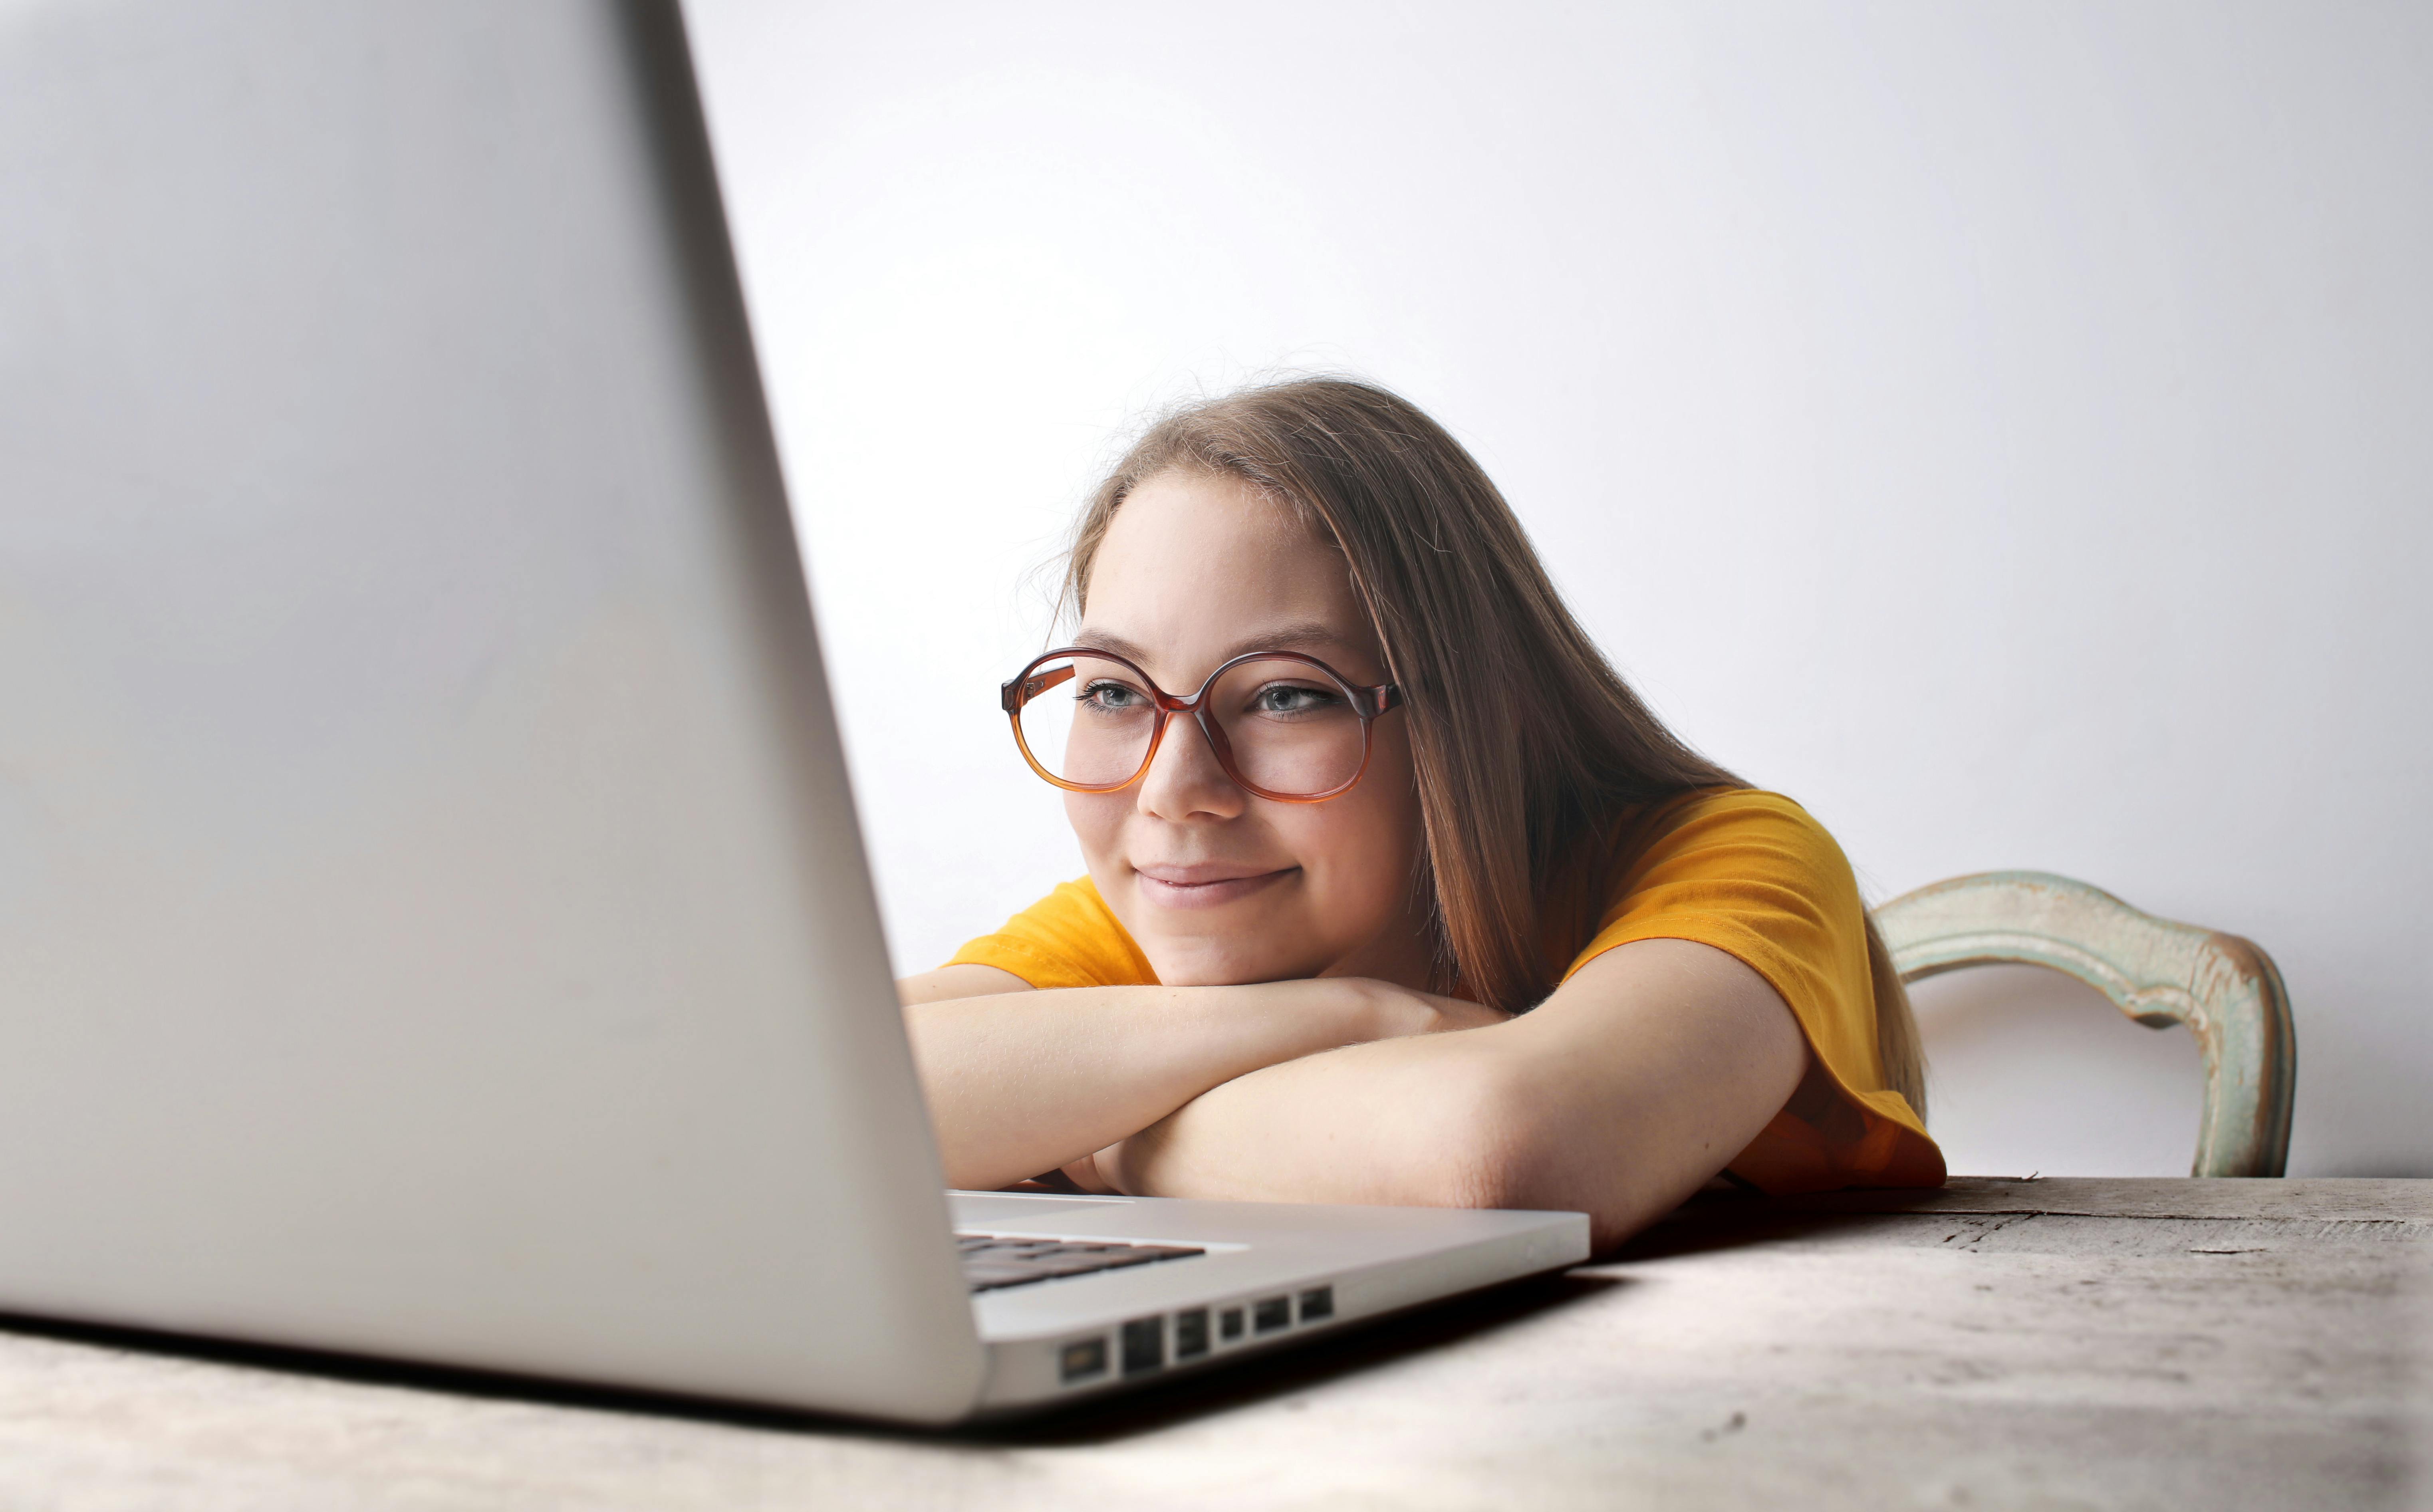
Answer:
[(1367, 772), (1370, 726), (1401, 704), (1401, 689), (1358, 684), (1292, 650), (1255, 650), (1178, 696), (1112, 650), (1068, 645), (1034, 657), (1000, 701), (1032, 772), (1075, 794), (1139, 782), (1165, 721), (1187, 713), (1246, 794), (1319, 803)]

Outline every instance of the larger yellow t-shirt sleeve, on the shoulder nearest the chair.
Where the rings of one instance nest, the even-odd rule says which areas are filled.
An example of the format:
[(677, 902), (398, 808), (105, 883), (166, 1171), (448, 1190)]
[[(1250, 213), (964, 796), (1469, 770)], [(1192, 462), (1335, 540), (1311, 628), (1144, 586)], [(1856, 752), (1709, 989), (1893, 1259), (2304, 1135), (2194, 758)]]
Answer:
[(1564, 976), (1633, 940), (1696, 940), (1764, 976), (1808, 1037), (1810, 1076), (1727, 1169), (1769, 1193), (1942, 1186), (1942, 1152), (1886, 1086), (1866, 908), (1825, 825), (1781, 794), (1710, 791), (1633, 830)]

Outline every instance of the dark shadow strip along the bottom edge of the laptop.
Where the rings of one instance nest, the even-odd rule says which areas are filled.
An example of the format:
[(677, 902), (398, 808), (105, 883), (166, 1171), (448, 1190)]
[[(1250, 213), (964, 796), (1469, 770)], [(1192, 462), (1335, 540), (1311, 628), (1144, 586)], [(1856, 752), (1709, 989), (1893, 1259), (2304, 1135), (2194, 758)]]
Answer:
[(197, 1339), (190, 1334), (163, 1334), (151, 1329), (127, 1329), (90, 1322), (58, 1322), (49, 1317), (22, 1317), (0, 1312), (0, 1332), (58, 1339), (95, 1349), (122, 1349), (173, 1359), (212, 1361), (255, 1371), (285, 1371), (348, 1381), (358, 1385), (387, 1385), (401, 1390), (428, 1390), (462, 1398), (487, 1398), (508, 1402), (545, 1402), (581, 1407), (591, 1412), (625, 1412), (654, 1417), (691, 1417), (732, 1427), (757, 1427), (805, 1434), (852, 1434), (866, 1439), (961, 1439), (971, 1444), (1097, 1444), (1146, 1434), (1165, 1424), (1246, 1407), (1309, 1385), (1321, 1385), (1341, 1376), (1355, 1376), (1389, 1366), (1426, 1349), (1445, 1349), (1462, 1339), (1491, 1334), (1528, 1317), (1560, 1312), (1581, 1300), (1606, 1295), (1618, 1286), (1630, 1286), (1613, 1276), (1538, 1276), (1499, 1288), (1435, 1303), (1414, 1312), (1355, 1325), (1338, 1334), (1324, 1334), (1251, 1356), (1212, 1371), (1197, 1371), (1144, 1385), (1114, 1398), (1085, 1400), (1073, 1407), (1010, 1417), (998, 1422), (966, 1424), (956, 1429), (905, 1429), (895, 1424), (859, 1422), (844, 1417), (820, 1417), (783, 1407), (757, 1407), (747, 1402), (713, 1402), (698, 1398), (669, 1398), (642, 1390), (574, 1385), (530, 1376), (506, 1376), (496, 1371), (467, 1371), (453, 1366), (418, 1366), (355, 1354), (328, 1354), (319, 1349), (290, 1349), (272, 1344), (238, 1344), (229, 1339)]

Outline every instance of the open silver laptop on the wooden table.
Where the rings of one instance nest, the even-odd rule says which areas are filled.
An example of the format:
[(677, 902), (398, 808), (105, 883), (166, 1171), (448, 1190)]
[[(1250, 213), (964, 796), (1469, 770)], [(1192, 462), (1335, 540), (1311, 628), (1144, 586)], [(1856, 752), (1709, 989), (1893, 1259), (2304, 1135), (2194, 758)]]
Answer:
[(1586, 1256), (942, 1191), (674, 5), (10, 5), (0, 265), (0, 1312), (937, 1424)]

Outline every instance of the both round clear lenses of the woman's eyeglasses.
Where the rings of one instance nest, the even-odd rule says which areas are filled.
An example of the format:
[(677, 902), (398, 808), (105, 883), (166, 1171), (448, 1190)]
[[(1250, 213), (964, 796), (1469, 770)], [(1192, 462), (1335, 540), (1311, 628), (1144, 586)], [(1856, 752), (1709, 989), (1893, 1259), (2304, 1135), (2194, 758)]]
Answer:
[[(1041, 767), (1080, 786), (1119, 786), (1148, 765), (1158, 701), (1124, 662), (1088, 655), (1032, 667), (1022, 691), (1022, 743)], [(1326, 794), (1360, 772), (1365, 735), (1350, 689), (1287, 657), (1229, 667), (1207, 691), (1207, 711), (1234, 757), (1234, 774), (1270, 794)], [(1175, 716), (1190, 723), (1190, 716)], [(1170, 728), (1168, 740), (1199, 738)]]

